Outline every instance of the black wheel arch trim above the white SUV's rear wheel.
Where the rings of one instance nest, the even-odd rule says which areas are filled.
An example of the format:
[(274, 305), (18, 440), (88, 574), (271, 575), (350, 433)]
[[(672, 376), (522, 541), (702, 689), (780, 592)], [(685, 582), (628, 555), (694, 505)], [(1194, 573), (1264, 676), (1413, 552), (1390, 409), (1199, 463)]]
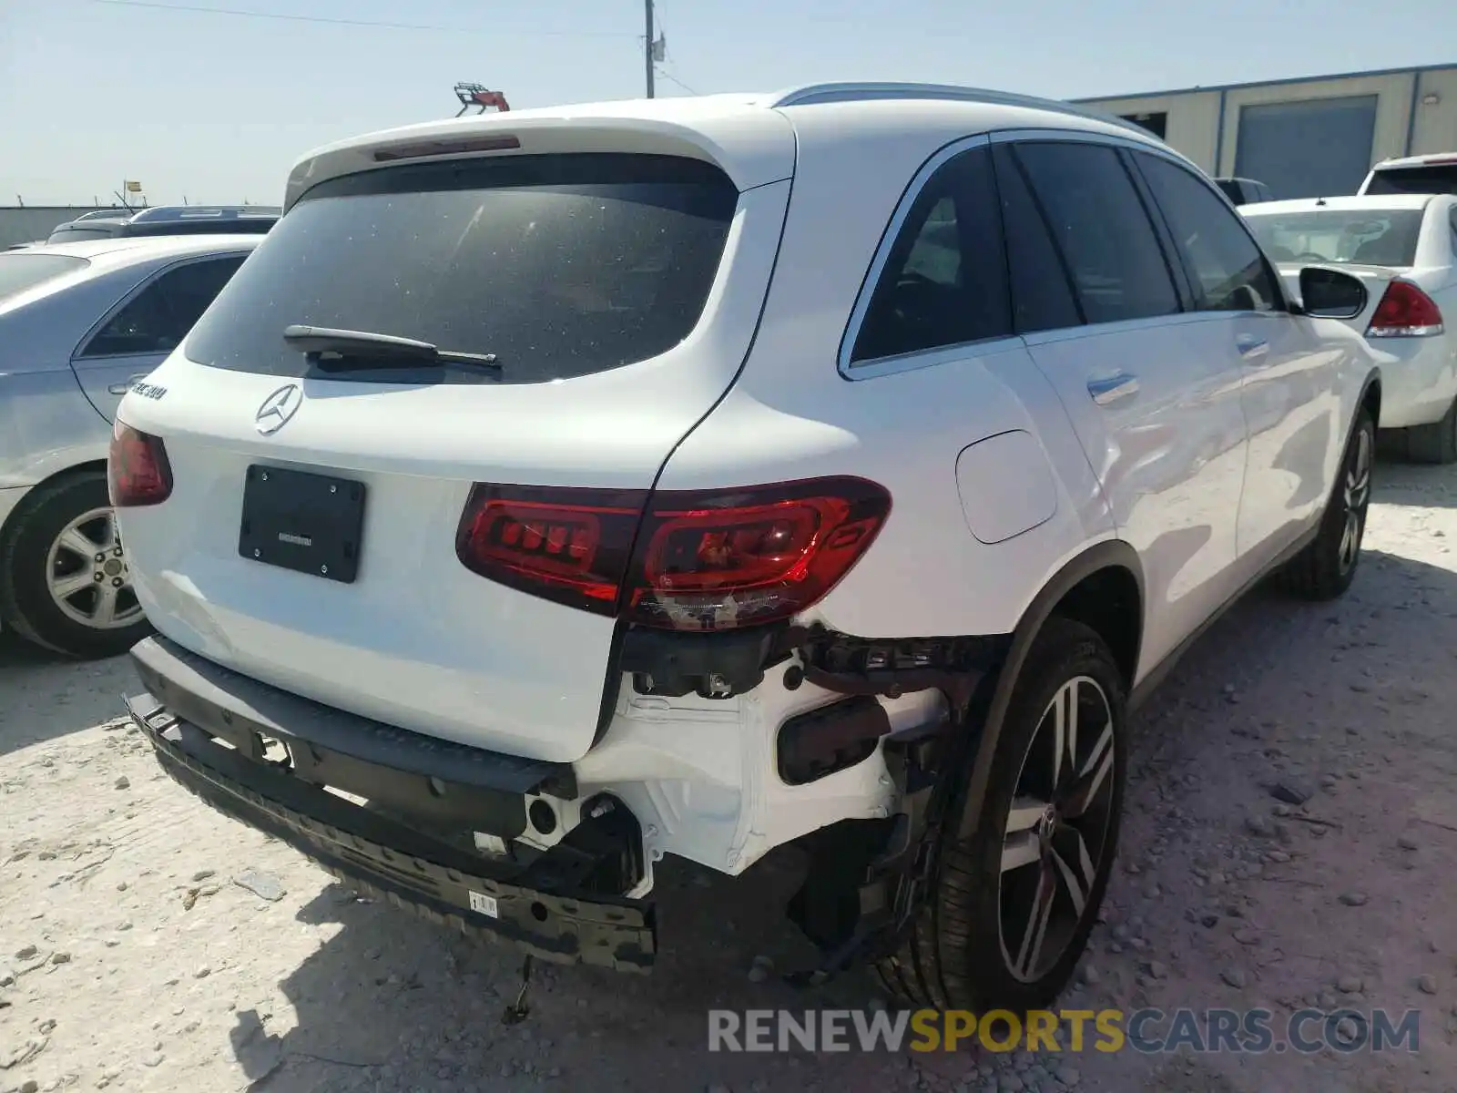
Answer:
[[(973, 717), (981, 713), (981, 734), (966, 784), (969, 803), (979, 802), (986, 793), (992, 756), (997, 753), (1013, 689), (1048, 619), (1059, 615), (1096, 630), (1118, 662), (1126, 698), (1138, 672), (1144, 605), (1144, 567), (1138, 552), (1122, 539), (1104, 539), (1088, 546), (1043, 584), (1018, 619), (1001, 669), (973, 702)], [(962, 838), (975, 832), (979, 813), (978, 807), (962, 809)]]

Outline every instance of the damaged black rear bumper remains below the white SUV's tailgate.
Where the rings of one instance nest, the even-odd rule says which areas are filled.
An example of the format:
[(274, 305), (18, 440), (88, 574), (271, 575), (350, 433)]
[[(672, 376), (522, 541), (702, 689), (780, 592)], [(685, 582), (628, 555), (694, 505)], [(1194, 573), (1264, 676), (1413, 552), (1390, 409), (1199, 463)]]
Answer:
[[(287, 842), (366, 895), (462, 933), (501, 939), (558, 963), (631, 972), (651, 966), (653, 905), (574, 883), (596, 867), (581, 842), (527, 864), (497, 861), (434, 834), (439, 823), (402, 822), (398, 806), (388, 812), (360, 806), (325, 790), (332, 783), (322, 781), (328, 771), (344, 771), (395, 800), (418, 783), (431, 794), (439, 790), (440, 800), (463, 799), (456, 807), (465, 815), (472, 807), (500, 815), (501, 800), (543, 784), (561, 788), (570, 768), (354, 718), (239, 676), (165, 638), (140, 643), (133, 660), (150, 692), (127, 700), (131, 720), (163, 771), (219, 812)], [(262, 742), (283, 745), (294, 758), (278, 762)], [(487, 803), (476, 804), (481, 800)], [(628, 832), (609, 829), (586, 845), (610, 857), (629, 853), (613, 845), (629, 839)]]

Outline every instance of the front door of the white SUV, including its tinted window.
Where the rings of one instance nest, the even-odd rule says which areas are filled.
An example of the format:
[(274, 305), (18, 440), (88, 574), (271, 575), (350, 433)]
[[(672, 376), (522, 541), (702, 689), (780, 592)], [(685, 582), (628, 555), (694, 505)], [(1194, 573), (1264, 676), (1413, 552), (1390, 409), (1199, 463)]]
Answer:
[(1249, 227), (1202, 178), (1164, 156), (1134, 153), (1174, 240), (1196, 310), (1240, 380), (1249, 461), (1238, 517), (1241, 571), (1253, 576), (1326, 500), (1339, 455), (1333, 354), (1284, 303)]

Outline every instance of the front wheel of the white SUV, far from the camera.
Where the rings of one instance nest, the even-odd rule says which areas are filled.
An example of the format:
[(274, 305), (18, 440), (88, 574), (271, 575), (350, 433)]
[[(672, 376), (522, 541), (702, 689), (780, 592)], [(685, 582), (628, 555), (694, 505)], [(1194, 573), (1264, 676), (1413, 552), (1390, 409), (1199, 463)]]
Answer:
[[(1329, 600), (1343, 595), (1361, 565), (1367, 509), (1371, 504), (1371, 471), (1375, 465), (1375, 423), (1364, 407), (1340, 458), (1316, 538), (1284, 568), (1285, 589), (1300, 599)], [(1346, 542), (1346, 535), (1352, 542)]]

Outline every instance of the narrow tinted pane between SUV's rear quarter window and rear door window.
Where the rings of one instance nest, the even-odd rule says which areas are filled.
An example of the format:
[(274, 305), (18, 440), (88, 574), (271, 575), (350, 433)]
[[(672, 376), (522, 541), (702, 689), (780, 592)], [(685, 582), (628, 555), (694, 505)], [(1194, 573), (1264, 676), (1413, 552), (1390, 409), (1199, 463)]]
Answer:
[(1072, 296), (1072, 281), (1052, 245), (1026, 172), (1007, 144), (992, 150), (997, 189), (1001, 192), (1002, 232), (1011, 277), (1013, 321), (1018, 334), (1078, 326), (1083, 315)]

